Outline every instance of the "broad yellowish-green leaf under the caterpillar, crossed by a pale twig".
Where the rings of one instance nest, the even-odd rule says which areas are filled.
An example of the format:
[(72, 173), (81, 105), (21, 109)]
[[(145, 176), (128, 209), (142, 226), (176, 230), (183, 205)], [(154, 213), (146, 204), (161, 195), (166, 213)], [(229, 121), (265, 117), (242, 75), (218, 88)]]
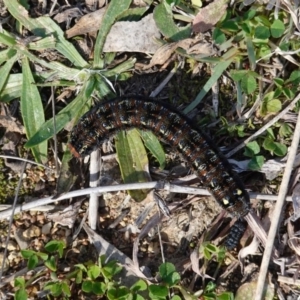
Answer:
[[(121, 169), (122, 178), (125, 183), (149, 181), (149, 162), (145, 147), (137, 129), (127, 133), (121, 131), (116, 136), (116, 151)], [(136, 201), (145, 199), (146, 191), (129, 191)]]

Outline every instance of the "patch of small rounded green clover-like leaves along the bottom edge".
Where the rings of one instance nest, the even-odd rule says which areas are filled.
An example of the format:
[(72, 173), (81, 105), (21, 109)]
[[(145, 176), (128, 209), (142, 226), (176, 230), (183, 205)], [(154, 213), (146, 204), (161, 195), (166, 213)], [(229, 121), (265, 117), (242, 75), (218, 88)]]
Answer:
[[(181, 276), (171, 263), (163, 263), (158, 270), (159, 283), (151, 284), (140, 279), (131, 287), (122, 286), (115, 276), (122, 271), (122, 267), (116, 261), (106, 261), (105, 256), (99, 256), (97, 262), (87, 261), (85, 263), (70, 266), (69, 272), (59, 269), (60, 260), (64, 259), (66, 245), (62, 241), (51, 241), (45, 245), (44, 252), (33, 250), (22, 250), (21, 254), (27, 260), (27, 268), (34, 270), (38, 266), (45, 268), (25, 280), (17, 277), (14, 282), (15, 300), (27, 300), (34, 295), (28, 294), (31, 284), (38, 278), (48, 278), (43, 284), (43, 291), (48, 298), (59, 297), (60, 299), (73, 299), (72, 290), (81, 290), (87, 295), (102, 296), (109, 300), (231, 300), (232, 293), (216, 293), (216, 285), (209, 282), (203, 290), (196, 293), (189, 292), (181, 285)], [(212, 244), (205, 243), (201, 247), (204, 253), (205, 265), (216, 259), (218, 264), (224, 259), (224, 249)], [(70, 287), (72, 286), (72, 290)], [(30, 293), (30, 292), (29, 292)]]

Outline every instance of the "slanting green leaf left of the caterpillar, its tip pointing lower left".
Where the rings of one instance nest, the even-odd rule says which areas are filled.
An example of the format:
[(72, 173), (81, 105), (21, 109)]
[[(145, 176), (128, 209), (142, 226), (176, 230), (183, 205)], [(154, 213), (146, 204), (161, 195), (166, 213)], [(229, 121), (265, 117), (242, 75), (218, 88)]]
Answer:
[[(81, 92), (77, 97), (63, 108), (56, 115), (56, 133), (64, 128), (75, 116), (81, 116), (84, 107), (90, 107), (90, 96), (94, 89), (94, 79), (91, 77), (87, 83), (82, 87)], [(25, 148), (31, 148), (39, 143), (50, 139), (54, 135), (53, 119), (46, 121), (39, 131), (25, 144)]]

